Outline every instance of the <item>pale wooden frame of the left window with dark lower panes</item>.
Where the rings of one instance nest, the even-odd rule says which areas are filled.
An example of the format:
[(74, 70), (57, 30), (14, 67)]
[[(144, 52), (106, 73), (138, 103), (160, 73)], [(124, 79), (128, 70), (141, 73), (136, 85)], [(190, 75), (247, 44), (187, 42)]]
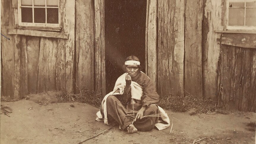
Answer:
[(18, 23), (16, 24), (16, 28), (18, 29), (31, 29), (31, 30), (42, 30), (42, 31), (61, 31), (61, 26), (62, 26), (62, 15), (61, 15), (61, 0), (58, 0), (58, 9), (59, 9), (59, 23), (58, 24), (53, 24), (53, 23), (47, 23), (47, 14), (45, 15), (45, 21), (46, 23), (34, 23), (34, 7), (36, 8), (57, 8), (57, 7), (48, 7), (46, 5), (47, 1), (45, 0), (45, 6), (34, 6), (34, 0), (32, 0), (32, 6), (22, 6), (22, 7), (31, 7), (32, 10), (32, 17), (33, 17), (33, 23), (25, 23), (21, 22), (21, 0), (17, 0), (17, 5), (18, 5)]

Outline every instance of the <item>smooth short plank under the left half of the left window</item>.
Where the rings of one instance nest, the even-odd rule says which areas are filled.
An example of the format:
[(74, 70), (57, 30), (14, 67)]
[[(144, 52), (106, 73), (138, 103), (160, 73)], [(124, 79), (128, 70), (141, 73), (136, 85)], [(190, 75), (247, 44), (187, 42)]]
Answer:
[(28, 90), (30, 94), (37, 93), (39, 42), (39, 37), (27, 38)]

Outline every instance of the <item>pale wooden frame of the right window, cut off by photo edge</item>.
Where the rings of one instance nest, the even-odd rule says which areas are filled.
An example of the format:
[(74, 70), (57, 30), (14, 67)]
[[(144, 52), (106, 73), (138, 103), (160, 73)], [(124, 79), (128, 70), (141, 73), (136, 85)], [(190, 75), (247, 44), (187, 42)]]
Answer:
[[(240, 32), (247, 33), (249, 31), (256, 31), (256, 26), (229, 26), (228, 25), (228, 19), (229, 19), (229, 1), (230, 0), (225, 0), (224, 3), (224, 31), (225, 30), (237, 30)], [(246, 0), (241, 0), (241, 2), (246, 2)], [(244, 11), (246, 11), (246, 7), (244, 8)], [(244, 16), (246, 15), (246, 12), (244, 13)], [(244, 18), (245, 21), (245, 18)]]

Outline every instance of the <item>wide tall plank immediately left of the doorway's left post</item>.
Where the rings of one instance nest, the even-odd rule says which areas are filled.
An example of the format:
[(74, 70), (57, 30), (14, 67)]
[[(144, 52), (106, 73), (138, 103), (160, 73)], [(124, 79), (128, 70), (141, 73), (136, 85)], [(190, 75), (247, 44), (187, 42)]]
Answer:
[(75, 5), (75, 93), (80, 93), (84, 88), (94, 89), (94, 4), (92, 0), (76, 0)]

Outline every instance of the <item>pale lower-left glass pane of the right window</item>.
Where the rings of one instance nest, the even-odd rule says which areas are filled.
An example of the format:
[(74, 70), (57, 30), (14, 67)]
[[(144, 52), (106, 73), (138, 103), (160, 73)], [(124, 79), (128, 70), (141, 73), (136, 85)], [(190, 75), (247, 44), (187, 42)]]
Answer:
[(228, 12), (229, 26), (244, 26), (244, 9), (234, 8)]

